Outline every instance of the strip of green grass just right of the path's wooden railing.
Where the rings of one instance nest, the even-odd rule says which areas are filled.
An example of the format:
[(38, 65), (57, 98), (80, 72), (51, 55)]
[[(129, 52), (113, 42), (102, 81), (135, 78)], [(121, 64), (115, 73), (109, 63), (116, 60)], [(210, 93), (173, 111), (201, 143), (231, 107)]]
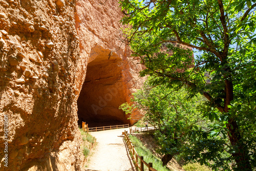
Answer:
[(139, 156), (143, 156), (144, 161), (146, 161), (147, 163), (153, 163), (153, 168), (159, 171), (169, 171), (167, 167), (162, 166), (162, 161), (159, 158), (157, 158), (154, 154), (152, 154), (150, 149), (143, 146), (142, 142), (138, 138), (132, 135), (129, 135), (129, 137), (131, 138), (133, 145), (135, 145), (136, 152), (138, 153)]

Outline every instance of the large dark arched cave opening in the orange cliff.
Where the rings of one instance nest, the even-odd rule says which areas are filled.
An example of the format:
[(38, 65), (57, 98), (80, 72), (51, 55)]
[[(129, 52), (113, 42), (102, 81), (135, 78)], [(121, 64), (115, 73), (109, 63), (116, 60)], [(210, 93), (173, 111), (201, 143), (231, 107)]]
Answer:
[(82, 121), (89, 127), (109, 126), (130, 123), (125, 113), (118, 109), (126, 102), (124, 96), (121, 59), (116, 54), (108, 59), (106, 50), (88, 63), (86, 79), (80, 91), (78, 125)]

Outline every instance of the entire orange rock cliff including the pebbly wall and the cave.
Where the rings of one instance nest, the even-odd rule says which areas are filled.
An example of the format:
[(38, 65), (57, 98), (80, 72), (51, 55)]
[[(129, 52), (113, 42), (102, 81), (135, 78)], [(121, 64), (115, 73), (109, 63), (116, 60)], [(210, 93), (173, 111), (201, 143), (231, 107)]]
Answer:
[(79, 94), (85, 119), (130, 122), (141, 68), (121, 16), (117, 0), (0, 0), (1, 171), (80, 170)]

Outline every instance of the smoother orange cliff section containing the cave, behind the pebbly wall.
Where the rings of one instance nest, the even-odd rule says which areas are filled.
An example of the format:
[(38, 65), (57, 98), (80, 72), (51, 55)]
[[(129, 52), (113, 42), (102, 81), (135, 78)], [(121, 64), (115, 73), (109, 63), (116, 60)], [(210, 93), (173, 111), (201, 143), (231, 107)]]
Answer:
[(131, 94), (142, 86), (143, 79), (138, 79), (142, 68), (132, 60), (130, 49), (122, 42), (120, 28), (125, 26), (120, 24), (123, 14), (118, 1), (78, 1), (76, 8), (80, 55), (88, 66), (87, 73), (78, 76), (79, 123), (133, 124), (135, 120), (127, 120), (129, 116), (118, 108), (129, 102)]

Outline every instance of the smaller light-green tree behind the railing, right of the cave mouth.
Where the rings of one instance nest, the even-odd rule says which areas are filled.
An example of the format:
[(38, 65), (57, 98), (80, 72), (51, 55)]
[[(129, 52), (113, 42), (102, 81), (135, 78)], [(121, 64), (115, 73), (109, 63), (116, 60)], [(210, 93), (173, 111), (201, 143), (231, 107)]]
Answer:
[(182, 153), (182, 146), (188, 144), (185, 138), (188, 130), (197, 125), (206, 126), (197, 110), (203, 100), (200, 94), (187, 99), (183, 88), (177, 92), (166, 85), (152, 87), (152, 81), (154, 79), (149, 78), (144, 87), (133, 94), (132, 105), (123, 103), (120, 109), (126, 114), (143, 111), (144, 120), (156, 127), (155, 137), (160, 145), (159, 152), (164, 155), (163, 165), (166, 165), (174, 155)]

